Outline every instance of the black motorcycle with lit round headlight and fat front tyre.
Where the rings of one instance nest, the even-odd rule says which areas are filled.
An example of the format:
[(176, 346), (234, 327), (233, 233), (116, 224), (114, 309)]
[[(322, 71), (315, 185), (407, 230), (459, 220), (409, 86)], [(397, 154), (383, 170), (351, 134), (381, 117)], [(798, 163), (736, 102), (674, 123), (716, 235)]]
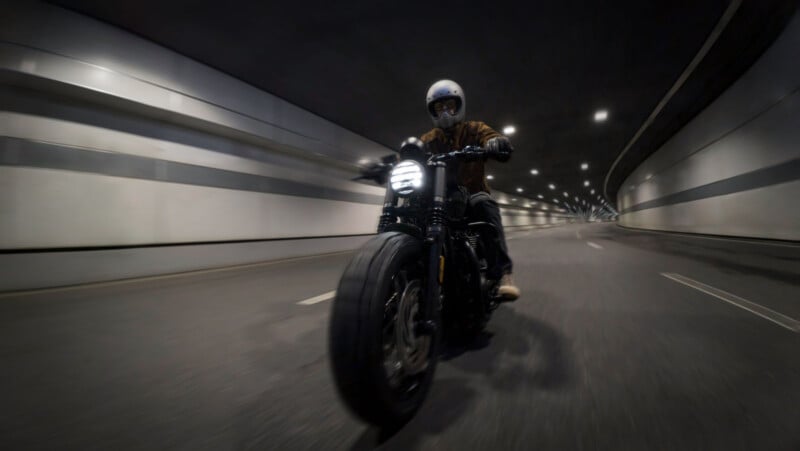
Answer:
[(496, 247), (484, 245), (497, 229), (467, 222), (469, 195), (448, 183), (458, 161), (487, 156), (471, 146), (432, 155), (410, 138), (398, 161), (361, 177), (389, 183), (378, 235), (339, 282), (329, 343), (339, 393), (369, 423), (411, 419), (432, 383), (443, 334), (474, 337), (497, 307), (485, 251)]

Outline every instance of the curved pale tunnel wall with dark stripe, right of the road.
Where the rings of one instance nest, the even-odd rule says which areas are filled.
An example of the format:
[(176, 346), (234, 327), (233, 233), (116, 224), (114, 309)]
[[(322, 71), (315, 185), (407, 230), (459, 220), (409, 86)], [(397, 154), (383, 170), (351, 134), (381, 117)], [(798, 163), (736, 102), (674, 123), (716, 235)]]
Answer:
[(800, 15), (645, 160), (617, 196), (626, 227), (800, 240)]

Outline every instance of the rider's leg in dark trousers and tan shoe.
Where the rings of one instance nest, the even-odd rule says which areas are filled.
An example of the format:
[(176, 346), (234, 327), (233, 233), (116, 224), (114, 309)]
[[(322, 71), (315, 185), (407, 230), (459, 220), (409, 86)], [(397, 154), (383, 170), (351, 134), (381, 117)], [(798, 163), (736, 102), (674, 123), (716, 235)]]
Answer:
[(477, 221), (488, 222), (495, 226), (498, 232), (496, 240), (484, 240), (484, 246), (488, 247), (487, 263), (489, 264), (489, 277), (500, 280), (498, 294), (508, 300), (519, 297), (519, 288), (514, 285), (511, 278), (513, 264), (508, 256), (505, 233), (503, 231), (503, 221), (500, 217), (500, 208), (497, 202), (489, 193), (481, 191), (470, 196), (469, 216)]

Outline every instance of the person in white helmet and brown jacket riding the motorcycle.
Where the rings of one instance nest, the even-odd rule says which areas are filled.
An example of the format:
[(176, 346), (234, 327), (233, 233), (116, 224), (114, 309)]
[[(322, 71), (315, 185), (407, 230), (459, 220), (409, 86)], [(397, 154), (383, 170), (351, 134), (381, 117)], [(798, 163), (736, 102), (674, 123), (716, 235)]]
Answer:
[[(465, 146), (481, 146), (489, 151), (489, 157), (500, 162), (508, 161), (514, 148), (508, 138), (478, 121), (464, 121), (466, 100), (464, 90), (452, 80), (439, 80), (428, 89), (426, 98), (428, 113), (433, 119), (434, 129), (420, 138), (433, 153), (459, 150)], [(498, 294), (508, 301), (519, 297), (519, 288), (511, 277), (512, 264), (508, 256), (503, 223), (497, 202), (489, 195), (483, 161), (462, 162), (455, 169), (457, 183), (470, 194), (467, 215), (470, 219), (494, 225), (499, 237), (495, 242), (487, 242), (497, 252), (495, 261), (489, 261), (489, 277), (499, 279)], [(490, 241), (490, 240), (487, 240)]]

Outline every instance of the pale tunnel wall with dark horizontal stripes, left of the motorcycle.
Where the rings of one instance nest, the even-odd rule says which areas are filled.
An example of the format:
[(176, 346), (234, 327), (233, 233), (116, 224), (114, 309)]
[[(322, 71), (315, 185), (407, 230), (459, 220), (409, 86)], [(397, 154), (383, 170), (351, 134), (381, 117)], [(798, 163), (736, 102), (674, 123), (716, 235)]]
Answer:
[[(390, 149), (58, 7), (0, 14), (0, 291), (357, 247)], [(506, 211), (514, 225), (560, 222)]]

